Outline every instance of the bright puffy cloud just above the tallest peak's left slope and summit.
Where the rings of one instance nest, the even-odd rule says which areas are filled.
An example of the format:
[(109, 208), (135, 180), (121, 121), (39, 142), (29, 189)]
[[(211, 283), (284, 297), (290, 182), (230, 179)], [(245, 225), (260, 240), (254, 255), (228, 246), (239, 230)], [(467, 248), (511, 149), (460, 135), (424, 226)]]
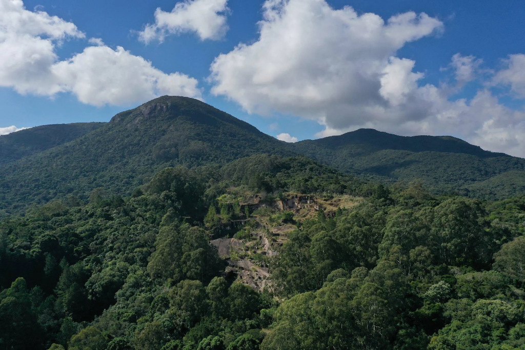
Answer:
[(90, 46), (51, 70), (61, 91), (71, 91), (80, 102), (125, 105), (165, 94), (199, 97), (197, 80), (181, 73), (166, 74), (151, 62), (122, 47)]

